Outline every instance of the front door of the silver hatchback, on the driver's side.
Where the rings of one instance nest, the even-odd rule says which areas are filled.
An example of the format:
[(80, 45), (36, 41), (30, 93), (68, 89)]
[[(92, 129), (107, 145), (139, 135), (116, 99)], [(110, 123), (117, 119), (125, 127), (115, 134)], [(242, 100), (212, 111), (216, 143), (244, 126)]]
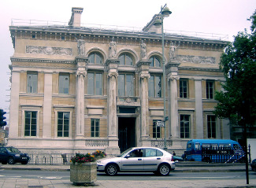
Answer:
[(133, 149), (121, 161), (121, 171), (143, 171), (143, 149)]

